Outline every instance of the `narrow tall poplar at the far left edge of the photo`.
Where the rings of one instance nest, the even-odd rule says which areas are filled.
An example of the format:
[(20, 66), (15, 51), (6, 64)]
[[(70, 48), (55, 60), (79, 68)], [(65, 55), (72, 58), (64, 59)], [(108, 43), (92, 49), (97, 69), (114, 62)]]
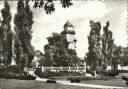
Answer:
[(2, 63), (6, 66), (11, 64), (12, 60), (12, 37), (13, 33), (11, 31), (11, 14), (10, 6), (8, 2), (4, 1), (4, 9), (1, 10), (3, 21), (1, 22), (1, 53), (2, 53)]

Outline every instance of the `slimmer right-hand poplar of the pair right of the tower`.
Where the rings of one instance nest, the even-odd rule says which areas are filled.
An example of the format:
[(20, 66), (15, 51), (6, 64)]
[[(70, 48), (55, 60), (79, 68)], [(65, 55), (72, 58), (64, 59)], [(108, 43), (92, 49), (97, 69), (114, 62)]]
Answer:
[(103, 69), (106, 70), (107, 66), (112, 61), (113, 54), (113, 43), (114, 39), (112, 38), (112, 32), (108, 29), (109, 22), (106, 23), (106, 26), (103, 27), (103, 37), (102, 37), (102, 53), (103, 53)]

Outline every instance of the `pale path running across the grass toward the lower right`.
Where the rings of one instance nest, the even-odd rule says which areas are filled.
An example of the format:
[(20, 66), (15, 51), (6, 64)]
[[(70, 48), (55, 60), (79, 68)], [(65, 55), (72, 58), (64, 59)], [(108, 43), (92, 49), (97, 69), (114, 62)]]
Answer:
[[(37, 78), (38, 81), (46, 81), (47, 79)], [(82, 86), (86, 88), (101, 88), (101, 89), (128, 89), (126, 87), (117, 87), (117, 86), (105, 86), (105, 85), (95, 85), (95, 84), (83, 84), (83, 83), (71, 83), (70, 81), (57, 81), (57, 83), (64, 85), (73, 85), (73, 86)]]

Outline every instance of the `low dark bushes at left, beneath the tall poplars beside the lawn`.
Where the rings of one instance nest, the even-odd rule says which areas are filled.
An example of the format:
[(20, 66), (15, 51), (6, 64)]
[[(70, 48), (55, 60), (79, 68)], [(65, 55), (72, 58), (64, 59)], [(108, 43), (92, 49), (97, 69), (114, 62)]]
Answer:
[(0, 67), (0, 78), (6, 79), (21, 79), (21, 80), (35, 80), (36, 77), (28, 74), (25, 71), (20, 71), (17, 66)]

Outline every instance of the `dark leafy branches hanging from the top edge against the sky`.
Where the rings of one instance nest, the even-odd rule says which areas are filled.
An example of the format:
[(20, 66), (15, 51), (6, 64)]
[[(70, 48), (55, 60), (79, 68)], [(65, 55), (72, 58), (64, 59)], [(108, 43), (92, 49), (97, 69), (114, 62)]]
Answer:
[[(54, 0), (35, 0), (33, 8), (44, 8), (46, 14), (51, 14), (53, 11), (55, 11), (54, 2)], [(73, 5), (71, 0), (60, 0), (60, 3), (62, 4), (63, 8), (69, 8)]]

